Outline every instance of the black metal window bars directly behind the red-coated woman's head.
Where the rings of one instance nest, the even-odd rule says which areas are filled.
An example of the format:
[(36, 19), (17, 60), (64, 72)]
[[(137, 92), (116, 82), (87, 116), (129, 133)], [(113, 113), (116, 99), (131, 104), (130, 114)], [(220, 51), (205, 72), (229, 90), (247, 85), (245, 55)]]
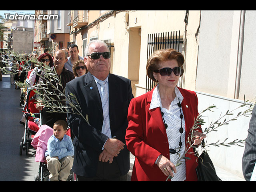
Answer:
[[(180, 38), (180, 31), (148, 34), (147, 60), (154, 51), (168, 48), (173, 48), (182, 53), (183, 38)], [(154, 86), (156, 86), (156, 82), (146, 76), (146, 92)]]

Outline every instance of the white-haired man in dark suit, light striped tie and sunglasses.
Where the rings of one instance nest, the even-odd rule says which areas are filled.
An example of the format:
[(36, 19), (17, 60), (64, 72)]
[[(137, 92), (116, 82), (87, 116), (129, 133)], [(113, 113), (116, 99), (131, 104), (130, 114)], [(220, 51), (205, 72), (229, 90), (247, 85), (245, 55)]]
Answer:
[[(110, 52), (104, 42), (90, 42), (84, 61), (89, 72), (66, 84), (66, 96), (74, 94), (76, 99), (71, 102), (79, 104), (82, 116), (89, 122), (78, 114), (67, 115), (74, 134), (72, 170), (80, 181), (126, 180), (130, 154), (124, 137), (128, 106), (133, 98), (131, 82), (109, 73)], [(101, 80), (106, 81), (105, 88), (99, 84)], [(108, 99), (104, 101), (104, 97)], [(69, 101), (66, 103), (70, 106)]]

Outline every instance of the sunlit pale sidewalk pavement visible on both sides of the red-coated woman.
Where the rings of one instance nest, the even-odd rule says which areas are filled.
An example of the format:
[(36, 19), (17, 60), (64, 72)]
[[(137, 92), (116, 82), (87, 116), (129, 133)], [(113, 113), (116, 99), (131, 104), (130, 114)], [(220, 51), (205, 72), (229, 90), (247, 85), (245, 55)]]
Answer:
[[(130, 153), (130, 170), (128, 172), (128, 181), (131, 180), (134, 159), (135, 159), (135, 157)], [(216, 169), (216, 173), (217, 173), (218, 177), (222, 181), (246, 181), (244, 178), (234, 175), (234, 174), (232, 174), (222, 168), (219, 168), (217, 166), (215, 166), (215, 169)]]

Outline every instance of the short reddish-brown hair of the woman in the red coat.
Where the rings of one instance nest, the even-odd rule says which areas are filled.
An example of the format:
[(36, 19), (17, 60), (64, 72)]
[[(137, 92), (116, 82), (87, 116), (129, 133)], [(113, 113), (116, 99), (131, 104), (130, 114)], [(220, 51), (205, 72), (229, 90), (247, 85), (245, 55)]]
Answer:
[(156, 50), (148, 58), (147, 65), (146, 65), (146, 71), (147, 71), (148, 77), (150, 79), (152, 79), (154, 82), (156, 82), (156, 79), (153, 76), (153, 72), (155, 72), (156, 70), (159, 70), (160, 62), (165, 62), (165, 61), (173, 60), (173, 59), (175, 59), (178, 62), (179, 67), (182, 68), (182, 74), (183, 74), (183, 72), (184, 72), (184, 68), (183, 68), (184, 57), (183, 57), (183, 55), (174, 49), (161, 49), (161, 50)]

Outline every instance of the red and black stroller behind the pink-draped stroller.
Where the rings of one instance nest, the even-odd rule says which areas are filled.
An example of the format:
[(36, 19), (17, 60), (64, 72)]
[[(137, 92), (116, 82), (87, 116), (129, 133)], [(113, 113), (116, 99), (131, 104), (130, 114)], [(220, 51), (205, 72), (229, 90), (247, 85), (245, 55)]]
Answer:
[[(26, 155), (28, 155), (28, 150), (31, 147), (30, 143), (33, 139), (33, 136), (36, 134), (36, 132), (39, 129), (40, 113), (38, 113), (38, 111), (35, 111), (35, 110), (32, 111), (29, 107), (29, 104), (35, 101), (35, 99), (33, 98), (34, 94), (35, 94), (34, 90), (30, 90), (27, 92), (26, 101), (23, 108), (23, 112), (25, 116), (25, 128), (24, 128), (24, 135), (22, 136), (22, 141), (20, 142), (20, 155), (22, 155), (23, 150), (26, 150)], [(29, 121), (33, 123), (34, 121), (37, 121), (38, 125), (36, 123), (34, 124), (38, 126), (38, 128), (31, 129), (29, 126), (29, 123), (30, 123)]]

